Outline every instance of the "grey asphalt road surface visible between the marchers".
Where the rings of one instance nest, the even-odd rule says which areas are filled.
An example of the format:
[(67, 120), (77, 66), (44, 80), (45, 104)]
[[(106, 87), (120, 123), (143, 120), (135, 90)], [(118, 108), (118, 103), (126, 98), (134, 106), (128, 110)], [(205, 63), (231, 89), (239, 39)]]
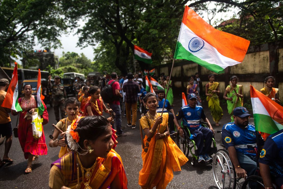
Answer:
[[(174, 99), (173, 109), (176, 114), (182, 104), (181, 95), (175, 96)], [(223, 124), (230, 122), (227, 108), (224, 105), (222, 106), (224, 115), (219, 127), (215, 126), (206, 102), (203, 103), (203, 108), (215, 130), (216, 145), (220, 149), (221, 135), (216, 133), (216, 130), (221, 130)], [(44, 125), (46, 143), (50, 140), (48, 136), (52, 133), (52, 124), (56, 124), (53, 108), (48, 107), (48, 113), (49, 123)], [(125, 126), (124, 132), (127, 136), (117, 138), (118, 144), (116, 151), (121, 155), (123, 160), (128, 178), (128, 188), (135, 189), (140, 188), (138, 185), (138, 176), (142, 168), (140, 131), (138, 120), (136, 129), (128, 128), (126, 117), (123, 117), (123, 114), (124, 112), (122, 112), (122, 124)], [(11, 118), (12, 126), (14, 127), (17, 117), (12, 116)], [(140, 118), (140, 113), (138, 113), (138, 118)], [(253, 120), (250, 120), (250, 122), (253, 123)], [(23, 156), (18, 138), (13, 138), (9, 156), (14, 160), (14, 163), (10, 165), (6, 164), (0, 169), (0, 188), (49, 188), (50, 164), (58, 159), (59, 150), (59, 147), (51, 148), (48, 146), (48, 154), (40, 156), (35, 160), (33, 162), (32, 172), (25, 175), (23, 173), (27, 166), (27, 160)], [(0, 151), (1, 154), (4, 153), (4, 144), (0, 146)], [(1, 158), (3, 157), (2, 155), (0, 156)], [(192, 156), (189, 155), (188, 159), (191, 160)], [(212, 165), (200, 165), (196, 163), (195, 166), (192, 166), (190, 162), (187, 162), (182, 166), (182, 171), (174, 172), (174, 178), (168, 184), (167, 188), (217, 188), (213, 179)]]

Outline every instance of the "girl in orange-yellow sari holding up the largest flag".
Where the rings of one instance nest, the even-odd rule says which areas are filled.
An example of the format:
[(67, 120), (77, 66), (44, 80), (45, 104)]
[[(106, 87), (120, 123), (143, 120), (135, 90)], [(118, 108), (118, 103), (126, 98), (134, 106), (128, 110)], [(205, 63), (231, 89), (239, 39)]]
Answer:
[[(143, 168), (140, 170), (141, 188), (164, 189), (173, 179), (173, 171), (181, 171), (188, 158), (170, 138), (168, 113), (156, 113), (158, 100), (153, 93), (145, 96), (148, 112), (141, 118), (141, 127), (146, 136), (145, 149), (141, 153)], [(159, 131), (158, 131), (158, 125)], [(173, 170), (173, 171), (172, 171)]]

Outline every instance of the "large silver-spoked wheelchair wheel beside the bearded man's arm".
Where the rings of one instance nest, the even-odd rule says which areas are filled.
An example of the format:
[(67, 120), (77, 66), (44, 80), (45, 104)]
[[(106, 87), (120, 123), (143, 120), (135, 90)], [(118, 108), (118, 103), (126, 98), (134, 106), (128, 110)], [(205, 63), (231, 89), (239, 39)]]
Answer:
[(234, 189), (236, 188), (236, 174), (233, 164), (229, 158), (229, 154), (220, 149), (213, 157), (213, 177), (219, 189)]

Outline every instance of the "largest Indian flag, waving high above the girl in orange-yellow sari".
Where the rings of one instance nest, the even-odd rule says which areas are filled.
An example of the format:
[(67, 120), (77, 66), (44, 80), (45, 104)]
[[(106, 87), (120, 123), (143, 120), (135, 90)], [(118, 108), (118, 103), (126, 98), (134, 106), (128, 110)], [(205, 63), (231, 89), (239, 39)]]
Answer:
[(175, 59), (193, 61), (213, 72), (243, 61), (250, 41), (219, 31), (185, 7), (175, 50)]

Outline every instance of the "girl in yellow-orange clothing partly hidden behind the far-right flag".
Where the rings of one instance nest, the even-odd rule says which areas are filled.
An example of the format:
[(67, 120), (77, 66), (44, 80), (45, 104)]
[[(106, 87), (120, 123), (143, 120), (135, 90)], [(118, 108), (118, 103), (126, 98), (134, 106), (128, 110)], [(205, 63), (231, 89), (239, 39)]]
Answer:
[[(268, 98), (270, 98), (271, 100), (273, 100), (274, 102), (277, 102), (278, 104), (280, 104), (279, 94), (278, 94), (279, 89), (274, 88), (275, 78), (272, 76), (268, 76), (267, 78), (265, 78), (264, 83), (265, 83), (265, 87), (260, 89), (260, 92), (263, 93)], [(264, 141), (270, 135), (264, 132), (260, 132), (260, 134), (261, 134), (261, 137), (264, 139)]]

